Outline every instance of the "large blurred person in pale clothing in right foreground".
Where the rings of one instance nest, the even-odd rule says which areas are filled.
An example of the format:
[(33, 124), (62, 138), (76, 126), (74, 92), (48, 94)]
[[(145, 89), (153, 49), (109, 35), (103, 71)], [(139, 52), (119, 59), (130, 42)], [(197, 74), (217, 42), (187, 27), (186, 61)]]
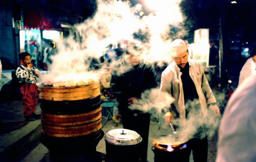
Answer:
[(256, 161), (256, 75), (234, 91), (219, 128), (216, 162)]

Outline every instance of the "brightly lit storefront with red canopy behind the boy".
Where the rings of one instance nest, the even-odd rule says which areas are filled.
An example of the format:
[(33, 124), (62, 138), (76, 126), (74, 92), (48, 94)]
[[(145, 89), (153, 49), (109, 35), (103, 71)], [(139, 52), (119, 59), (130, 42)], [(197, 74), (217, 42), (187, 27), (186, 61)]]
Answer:
[(55, 44), (59, 39), (62, 39), (62, 28), (53, 15), (33, 8), (24, 9), (19, 31), (20, 52), (30, 53), (34, 66), (43, 70), (44, 50), (50, 47), (50, 42)]

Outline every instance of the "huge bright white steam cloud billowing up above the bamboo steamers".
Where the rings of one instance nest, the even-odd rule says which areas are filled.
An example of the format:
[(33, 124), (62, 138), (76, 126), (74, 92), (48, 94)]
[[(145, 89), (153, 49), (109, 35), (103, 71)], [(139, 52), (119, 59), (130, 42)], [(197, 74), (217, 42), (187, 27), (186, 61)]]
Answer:
[[(181, 27), (183, 21), (179, 4), (180, 1), (163, 1), (161, 10), (146, 16), (140, 4), (131, 6), (129, 1), (98, 0), (94, 16), (76, 25), (73, 35), (57, 42), (58, 53), (52, 57), (50, 73), (42, 81), (55, 81), (57, 76), (66, 74), (78, 74), (82, 77), (76, 78), (84, 79), (82, 73), (88, 72), (90, 58), (102, 56), (109, 43), (132, 40), (135, 35), (147, 35), (142, 43), (143, 59), (159, 65), (169, 62), (169, 31), (172, 27)], [(94, 75), (99, 78), (101, 72), (95, 71)]]

